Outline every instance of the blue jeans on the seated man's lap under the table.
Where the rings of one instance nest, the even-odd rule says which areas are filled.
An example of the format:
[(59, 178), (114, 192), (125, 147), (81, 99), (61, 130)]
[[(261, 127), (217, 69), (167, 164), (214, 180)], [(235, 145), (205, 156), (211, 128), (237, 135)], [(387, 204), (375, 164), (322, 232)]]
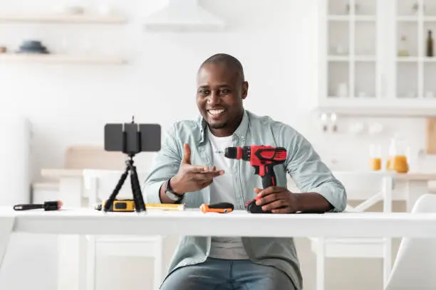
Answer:
[(165, 279), (162, 290), (295, 290), (289, 276), (250, 260), (207, 259), (182, 267)]

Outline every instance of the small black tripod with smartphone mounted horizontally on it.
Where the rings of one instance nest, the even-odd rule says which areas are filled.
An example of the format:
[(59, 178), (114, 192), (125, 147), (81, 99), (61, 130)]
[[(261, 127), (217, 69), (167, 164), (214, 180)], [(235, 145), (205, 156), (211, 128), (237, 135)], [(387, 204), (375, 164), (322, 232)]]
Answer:
[(142, 151), (160, 151), (160, 139), (161, 129), (159, 124), (136, 124), (134, 116), (130, 123), (105, 125), (105, 150), (121, 151), (129, 157), (125, 161), (124, 173), (105, 203), (103, 208), (105, 212), (108, 212), (112, 207), (113, 201), (123, 187), (129, 173), (133, 199), (135, 200), (135, 210), (137, 212), (146, 210), (136, 166), (133, 165), (133, 157)]

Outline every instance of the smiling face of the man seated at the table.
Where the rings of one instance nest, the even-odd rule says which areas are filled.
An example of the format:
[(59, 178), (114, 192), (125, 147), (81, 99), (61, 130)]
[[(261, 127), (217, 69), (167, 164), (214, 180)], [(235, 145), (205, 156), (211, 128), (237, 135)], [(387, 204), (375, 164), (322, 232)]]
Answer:
[(224, 64), (209, 63), (199, 70), (197, 106), (211, 129), (232, 128), (239, 122), (247, 90), (248, 83)]

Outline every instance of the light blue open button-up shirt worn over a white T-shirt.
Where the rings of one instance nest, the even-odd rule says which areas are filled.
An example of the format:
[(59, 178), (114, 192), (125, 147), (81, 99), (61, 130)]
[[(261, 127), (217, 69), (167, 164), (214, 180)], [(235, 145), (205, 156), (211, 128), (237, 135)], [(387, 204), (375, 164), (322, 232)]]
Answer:
[[(199, 116), (195, 120), (175, 122), (162, 136), (162, 148), (158, 152), (143, 193), (147, 203), (161, 203), (160, 186), (180, 167), (183, 144), (191, 148), (191, 163), (212, 167), (212, 149), (207, 138), (207, 124)], [(286, 187), (287, 174), (301, 192), (321, 194), (334, 212), (346, 208), (346, 190), (334, 178), (329, 168), (321, 161), (311, 144), (295, 129), (271, 117), (259, 117), (245, 110), (241, 124), (232, 135), (233, 146), (269, 145), (281, 146), (288, 151), (285, 163), (274, 166), (277, 186)], [(219, 169), (219, 168), (218, 168)], [(261, 178), (254, 174), (249, 162), (234, 162), (235, 210), (245, 210), (245, 203), (254, 198), (254, 188), (262, 188)], [(209, 187), (186, 193), (182, 200), (187, 208), (199, 208), (209, 204)], [(261, 230), (261, 229), (258, 229)], [(204, 262), (210, 249), (210, 237), (182, 237), (170, 263), (169, 273), (190, 264)], [(274, 266), (284, 271), (296, 286), (302, 289), (299, 259), (293, 238), (242, 237), (242, 242), (251, 261)]]

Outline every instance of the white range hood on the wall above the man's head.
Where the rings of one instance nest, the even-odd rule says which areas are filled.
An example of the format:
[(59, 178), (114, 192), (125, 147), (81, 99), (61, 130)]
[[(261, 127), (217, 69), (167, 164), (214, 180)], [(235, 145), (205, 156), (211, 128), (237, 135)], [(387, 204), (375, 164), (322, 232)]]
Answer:
[(224, 21), (198, 4), (198, 0), (168, 0), (145, 19), (145, 28), (158, 31), (219, 30)]

